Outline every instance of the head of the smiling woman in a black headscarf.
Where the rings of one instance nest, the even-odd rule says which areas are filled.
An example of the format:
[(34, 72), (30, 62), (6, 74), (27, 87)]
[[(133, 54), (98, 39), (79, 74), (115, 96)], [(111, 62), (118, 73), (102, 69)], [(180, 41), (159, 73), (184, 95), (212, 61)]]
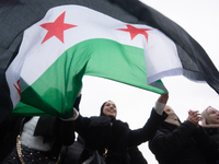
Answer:
[(115, 103), (112, 101), (107, 101), (103, 103), (103, 105), (101, 106), (101, 116), (108, 116), (108, 117), (116, 118), (117, 108), (116, 108)]

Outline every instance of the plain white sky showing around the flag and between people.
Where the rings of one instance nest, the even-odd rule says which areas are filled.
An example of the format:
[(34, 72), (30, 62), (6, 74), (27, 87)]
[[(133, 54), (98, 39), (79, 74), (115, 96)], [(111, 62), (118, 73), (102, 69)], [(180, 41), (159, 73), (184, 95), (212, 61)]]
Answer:
[[(218, 0), (142, 0), (186, 30), (207, 51), (219, 70), (219, 1)], [(169, 90), (170, 105), (181, 121), (187, 118), (188, 109), (203, 112), (207, 106), (219, 109), (218, 94), (207, 84), (195, 83), (184, 77), (162, 79)], [(160, 95), (114, 81), (84, 77), (80, 112), (82, 116), (99, 116), (103, 102), (116, 103), (117, 118), (127, 121), (131, 129), (141, 128)], [(158, 164), (148, 149), (141, 152), (149, 164)]]

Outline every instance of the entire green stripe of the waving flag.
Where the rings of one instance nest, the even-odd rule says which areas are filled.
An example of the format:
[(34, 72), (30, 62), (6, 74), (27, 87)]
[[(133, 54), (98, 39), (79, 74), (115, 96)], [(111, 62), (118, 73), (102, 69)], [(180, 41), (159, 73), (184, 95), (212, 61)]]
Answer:
[[(31, 71), (31, 70), (30, 70)], [(34, 72), (30, 72), (30, 75)], [(94, 75), (123, 82), (157, 93), (163, 90), (147, 85), (143, 49), (117, 42), (95, 38), (67, 49), (31, 86), (21, 102), (34, 107), (34, 115), (72, 116), (72, 106), (82, 85), (82, 77)], [(25, 84), (21, 79), (21, 85)], [(36, 109), (41, 112), (36, 113)], [(23, 115), (19, 108), (13, 114)], [(32, 113), (33, 112), (33, 113)], [(35, 113), (34, 113), (35, 112)], [(43, 113), (42, 113), (43, 112)]]

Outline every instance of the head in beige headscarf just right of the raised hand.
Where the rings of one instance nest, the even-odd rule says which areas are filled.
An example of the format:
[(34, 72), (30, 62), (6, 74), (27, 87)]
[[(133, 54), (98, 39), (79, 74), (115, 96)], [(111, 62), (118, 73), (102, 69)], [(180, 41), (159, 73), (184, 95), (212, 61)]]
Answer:
[(166, 105), (163, 110), (168, 114), (168, 117), (165, 118), (164, 121), (172, 124), (172, 125), (176, 125), (176, 126), (181, 125), (181, 122), (180, 122), (177, 116), (175, 115), (174, 110), (172, 109), (172, 107)]

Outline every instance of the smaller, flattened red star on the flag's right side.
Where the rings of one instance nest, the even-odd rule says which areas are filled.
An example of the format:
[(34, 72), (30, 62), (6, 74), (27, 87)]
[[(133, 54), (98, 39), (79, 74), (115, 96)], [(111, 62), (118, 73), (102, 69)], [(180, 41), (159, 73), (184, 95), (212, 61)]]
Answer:
[(127, 24), (127, 28), (118, 28), (118, 31), (129, 32), (130, 38), (134, 39), (138, 34), (142, 34), (146, 36), (146, 39), (148, 40), (148, 33), (146, 31), (151, 31), (151, 28), (137, 28), (132, 25)]

